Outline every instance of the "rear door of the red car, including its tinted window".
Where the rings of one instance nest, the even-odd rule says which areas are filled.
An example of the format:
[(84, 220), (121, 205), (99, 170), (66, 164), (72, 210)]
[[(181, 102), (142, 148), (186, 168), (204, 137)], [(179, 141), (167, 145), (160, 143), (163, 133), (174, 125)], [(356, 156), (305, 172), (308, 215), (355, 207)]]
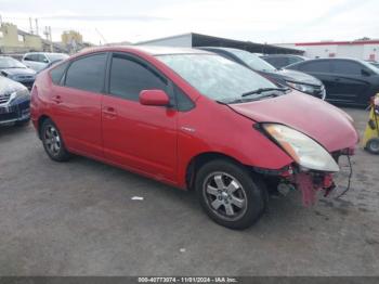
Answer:
[(101, 101), (107, 53), (76, 59), (69, 64), (61, 83), (52, 87), (53, 120), (67, 147), (92, 157), (103, 156)]

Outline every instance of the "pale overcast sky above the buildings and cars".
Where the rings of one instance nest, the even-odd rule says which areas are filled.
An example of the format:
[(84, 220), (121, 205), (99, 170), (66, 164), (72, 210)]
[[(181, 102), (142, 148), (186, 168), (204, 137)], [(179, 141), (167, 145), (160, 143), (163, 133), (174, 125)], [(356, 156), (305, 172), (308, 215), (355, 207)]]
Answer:
[(53, 41), (138, 42), (185, 33), (266, 43), (379, 39), (379, 0), (0, 0), (2, 22), (29, 31), (38, 18)]

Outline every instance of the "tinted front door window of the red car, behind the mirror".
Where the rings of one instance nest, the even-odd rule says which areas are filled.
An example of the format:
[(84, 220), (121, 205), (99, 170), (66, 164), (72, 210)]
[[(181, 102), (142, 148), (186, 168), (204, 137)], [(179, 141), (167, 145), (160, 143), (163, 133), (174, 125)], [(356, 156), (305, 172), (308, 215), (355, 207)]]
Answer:
[(122, 54), (113, 56), (109, 77), (109, 93), (131, 101), (139, 101), (142, 90), (167, 90), (166, 79)]

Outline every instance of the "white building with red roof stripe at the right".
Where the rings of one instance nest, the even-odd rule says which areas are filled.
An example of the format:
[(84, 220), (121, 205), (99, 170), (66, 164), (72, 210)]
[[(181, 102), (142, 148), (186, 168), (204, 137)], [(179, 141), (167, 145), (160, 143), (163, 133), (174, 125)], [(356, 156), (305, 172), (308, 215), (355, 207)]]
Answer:
[(319, 41), (278, 44), (285, 48), (300, 48), (310, 59), (352, 57), (379, 61), (379, 40)]

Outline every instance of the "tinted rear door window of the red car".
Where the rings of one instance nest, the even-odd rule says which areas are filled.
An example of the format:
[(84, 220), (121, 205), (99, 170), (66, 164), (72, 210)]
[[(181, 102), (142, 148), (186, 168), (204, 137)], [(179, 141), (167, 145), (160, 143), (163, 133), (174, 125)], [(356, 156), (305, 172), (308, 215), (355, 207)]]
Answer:
[(106, 53), (101, 53), (74, 61), (66, 73), (65, 86), (91, 92), (102, 92), (106, 56)]

